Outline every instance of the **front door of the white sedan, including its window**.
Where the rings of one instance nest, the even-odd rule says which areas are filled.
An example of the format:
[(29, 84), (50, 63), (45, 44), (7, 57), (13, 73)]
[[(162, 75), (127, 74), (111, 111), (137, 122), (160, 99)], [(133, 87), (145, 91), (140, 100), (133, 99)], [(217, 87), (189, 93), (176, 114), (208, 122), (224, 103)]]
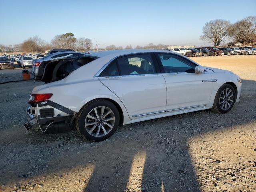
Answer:
[(210, 72), (196, 74), (195, 63), (174, 54), (156, 54), (166, 81), (166, 111), (206, 106), (212, 94)]

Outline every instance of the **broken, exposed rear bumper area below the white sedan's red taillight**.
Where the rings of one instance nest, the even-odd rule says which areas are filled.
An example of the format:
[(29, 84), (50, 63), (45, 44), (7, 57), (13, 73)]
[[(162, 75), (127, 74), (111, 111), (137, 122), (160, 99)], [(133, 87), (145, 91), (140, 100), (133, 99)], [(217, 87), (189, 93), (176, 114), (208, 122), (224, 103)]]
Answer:
[(35, 103), (27, 112), (30, 120), (24, 124), (26, 130), (39, 126), (42, 132), (69, 130), (76, 117), (76, 112), (50, 100)]

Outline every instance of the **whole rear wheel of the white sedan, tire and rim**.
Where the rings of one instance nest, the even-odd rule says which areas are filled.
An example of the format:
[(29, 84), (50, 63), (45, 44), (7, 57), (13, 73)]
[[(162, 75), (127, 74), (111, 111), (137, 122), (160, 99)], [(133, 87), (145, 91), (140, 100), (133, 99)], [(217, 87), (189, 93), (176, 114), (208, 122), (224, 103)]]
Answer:
[(103, 141), (116, 132), (119, 120), (116, 106), (108, 100), (99, 99), (82, 108), (76, 118), (76, 128), (87, 140)]

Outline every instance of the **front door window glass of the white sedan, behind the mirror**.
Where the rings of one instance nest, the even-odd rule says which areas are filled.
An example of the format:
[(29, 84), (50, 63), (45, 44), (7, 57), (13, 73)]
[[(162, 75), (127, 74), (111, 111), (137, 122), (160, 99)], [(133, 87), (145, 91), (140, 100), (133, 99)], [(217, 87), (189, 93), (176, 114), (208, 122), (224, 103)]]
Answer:
[(196, 64), (171, 54), (157, 54), (165, 73), (195, 72)]

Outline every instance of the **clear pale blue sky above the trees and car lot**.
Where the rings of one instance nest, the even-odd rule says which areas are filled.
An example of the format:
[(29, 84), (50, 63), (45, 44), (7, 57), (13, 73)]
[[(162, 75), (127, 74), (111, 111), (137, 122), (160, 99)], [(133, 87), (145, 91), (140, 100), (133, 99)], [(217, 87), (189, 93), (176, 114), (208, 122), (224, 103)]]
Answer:
[(256, 0), (1, 0), (0, 44), (32, 36), (50, 42), (72, 32), (96, 46), (210, 45), (200, 40), (210, 20), (234, 23), (256, 15)]

